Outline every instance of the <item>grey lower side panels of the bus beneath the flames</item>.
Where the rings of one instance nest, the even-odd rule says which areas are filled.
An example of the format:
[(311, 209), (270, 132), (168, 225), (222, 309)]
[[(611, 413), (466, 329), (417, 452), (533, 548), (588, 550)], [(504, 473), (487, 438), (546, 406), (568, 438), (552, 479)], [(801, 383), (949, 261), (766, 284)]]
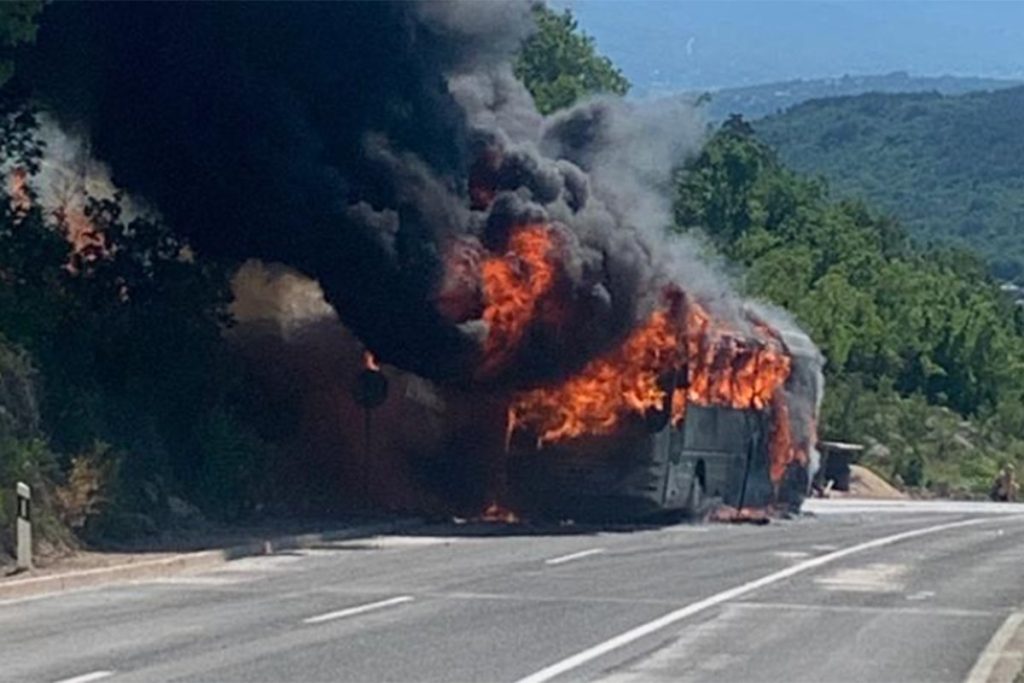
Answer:
[(603, 520), (697, 514), (710, 499), (764, 505), (767, 427), (762, 412), (691, 405), (679, 427), (515, 447), (512, 498), (542, 516)]

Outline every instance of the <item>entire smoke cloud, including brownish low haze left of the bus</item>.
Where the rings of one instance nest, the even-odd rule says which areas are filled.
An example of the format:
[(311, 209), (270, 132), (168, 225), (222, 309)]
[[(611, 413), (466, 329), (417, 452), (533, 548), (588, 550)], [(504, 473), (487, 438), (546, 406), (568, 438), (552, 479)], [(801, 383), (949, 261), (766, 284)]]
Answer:
[[(291, 489), (480, 509), (502, 488), (510, 396), (614, 349), (670, 287), (730, 333), (767, 322), (818, 357), (667, 237), (674, 169), (706, 135), (695, 110), (597, 97), (542, 116), (511, 68), (534, 28), (517, 1), (47, 6), (19, 61), (56, 122), (44, 171), (77, 169), (77, 197), (127, 190), (240, 265), (227, 336), (294, 454), (280, 477), (306, 477)], [(502, 263), (539, 236), (553, 256), (526, 275), (518, 250)], [(498, 361), (488, 267), (546, 288)], [(350, 391), (366, 348), (391, 386), (373, 430)], [(819, 365), (786, 390), (819, 399)], [(812, 441), (817, 407), (793, 402)]]

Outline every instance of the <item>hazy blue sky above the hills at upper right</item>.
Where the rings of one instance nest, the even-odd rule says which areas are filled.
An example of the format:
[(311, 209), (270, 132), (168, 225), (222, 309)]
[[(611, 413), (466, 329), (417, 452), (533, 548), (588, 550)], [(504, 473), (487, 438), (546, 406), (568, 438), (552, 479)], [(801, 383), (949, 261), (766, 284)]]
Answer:
[(642, 94), (907, 71), (1024, 76), (1024, 2), (554, 0)]

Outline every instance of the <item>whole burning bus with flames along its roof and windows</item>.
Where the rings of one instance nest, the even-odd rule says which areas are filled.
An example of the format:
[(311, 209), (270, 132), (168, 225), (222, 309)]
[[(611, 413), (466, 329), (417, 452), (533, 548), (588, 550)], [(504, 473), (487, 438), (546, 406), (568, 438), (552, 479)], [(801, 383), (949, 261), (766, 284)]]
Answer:
[[(676, 293), (615, 352), (509, 410), (514, 505), (579, 519), (799, 509), (816, 458), (821, 355), (752, 319), (716, 330)], [(675, 324), (674, 324), (675, 323)]]

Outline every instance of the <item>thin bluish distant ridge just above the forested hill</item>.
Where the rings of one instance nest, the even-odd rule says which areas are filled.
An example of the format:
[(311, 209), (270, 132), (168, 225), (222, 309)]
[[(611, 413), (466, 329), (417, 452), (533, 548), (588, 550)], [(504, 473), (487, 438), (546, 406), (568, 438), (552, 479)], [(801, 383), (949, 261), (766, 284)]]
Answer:
[[(710, 92), (707, 104), (709, 117), (722, 121), (730, 114), (741, 114), (745, 119), (759, 119), (787, 110), (795, 104), (842, 95), (859, 95), (865, 92), (938, 92), (958, 95), (976, 90), (1000, 90), (1022, 85), (1021, 81), (961, 76), (919, 77), (906, 72), (893, 72), (884, 76), (843, 76), (842, 78), (799, 79), (780, 83), (766, 83), (741, 88), (725, 88)], [(700, 93), (688, 93), (699, 96)]]

